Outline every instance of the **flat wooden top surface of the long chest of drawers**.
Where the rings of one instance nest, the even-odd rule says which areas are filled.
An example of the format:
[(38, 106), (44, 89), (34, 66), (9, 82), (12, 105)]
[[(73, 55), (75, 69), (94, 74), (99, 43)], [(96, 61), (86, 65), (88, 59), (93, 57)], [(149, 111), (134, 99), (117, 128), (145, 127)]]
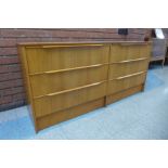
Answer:
[(150, 44), (152, 41), (62, 41), (62, 42), (20, 42), (17, 46), (56, 46), (56, 44)]

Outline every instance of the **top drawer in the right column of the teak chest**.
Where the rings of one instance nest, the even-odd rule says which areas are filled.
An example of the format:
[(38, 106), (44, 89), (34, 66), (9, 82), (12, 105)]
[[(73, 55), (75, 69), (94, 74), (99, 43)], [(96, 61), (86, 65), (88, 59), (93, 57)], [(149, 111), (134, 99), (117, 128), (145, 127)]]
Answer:
[(150, 55), (151, 48), (148, 44), (145, 43), (112, 44), (109, 62), (114, 63), (140, 57), (150, 57)]

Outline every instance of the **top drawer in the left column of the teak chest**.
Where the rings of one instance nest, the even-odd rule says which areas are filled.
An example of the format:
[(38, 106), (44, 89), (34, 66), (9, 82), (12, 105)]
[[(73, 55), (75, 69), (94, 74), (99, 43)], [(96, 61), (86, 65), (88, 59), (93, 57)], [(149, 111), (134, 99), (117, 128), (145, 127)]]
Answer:
[(43, 73), (108, 62), (109, 47), (103, 44), (92, 46), (44, 46), (41, 48), (27, 48), (26, 55), (29, 74)]

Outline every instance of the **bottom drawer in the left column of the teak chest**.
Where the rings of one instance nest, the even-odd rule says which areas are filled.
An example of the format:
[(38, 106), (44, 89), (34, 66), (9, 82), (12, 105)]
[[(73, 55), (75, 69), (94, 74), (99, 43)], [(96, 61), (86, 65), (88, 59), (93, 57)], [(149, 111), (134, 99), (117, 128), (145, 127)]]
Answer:
[(63, 91), (57, 94), (48, 94), (43, 98), (35, 99), (35, 113), (37, 117), (56, 113), (57, 111), (103, 98), (105, 96), (105, 91), (106, 81), (72, 91)]

